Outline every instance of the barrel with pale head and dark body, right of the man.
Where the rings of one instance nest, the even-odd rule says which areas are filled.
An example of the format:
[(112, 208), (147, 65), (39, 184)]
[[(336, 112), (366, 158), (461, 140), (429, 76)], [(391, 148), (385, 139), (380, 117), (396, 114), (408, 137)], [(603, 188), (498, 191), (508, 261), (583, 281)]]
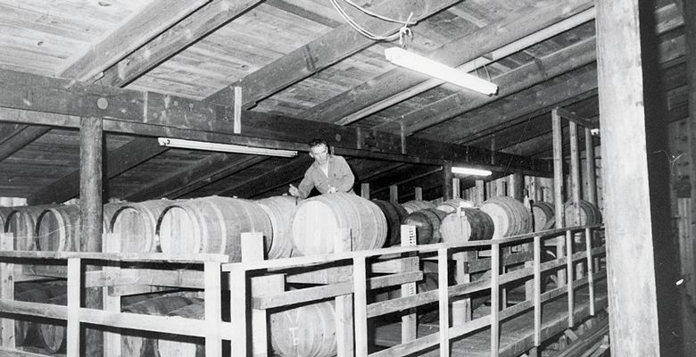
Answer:
[(493, 238), (493, 219), (478, 208), (462, 208), (443, 218), (440, 235), (443, 242), (463, 243), (469, 240), (488, 240)]

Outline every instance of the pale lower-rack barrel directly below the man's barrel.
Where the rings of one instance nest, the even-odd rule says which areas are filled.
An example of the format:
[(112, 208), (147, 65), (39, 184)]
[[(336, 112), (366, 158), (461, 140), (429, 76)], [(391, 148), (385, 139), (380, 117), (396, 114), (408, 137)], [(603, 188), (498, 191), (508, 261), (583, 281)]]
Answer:
[(333, 302), (312, 303), (270, 315), (270, 344), (282, 357), (336, 355)]

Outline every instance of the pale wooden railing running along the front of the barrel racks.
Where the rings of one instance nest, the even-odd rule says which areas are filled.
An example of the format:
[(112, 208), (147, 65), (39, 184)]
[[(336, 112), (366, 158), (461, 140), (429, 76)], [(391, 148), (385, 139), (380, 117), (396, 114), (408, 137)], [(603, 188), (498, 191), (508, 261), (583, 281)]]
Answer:
[[(55, 320), (67, 321), (67, 356), (79, 356), (79, 331), (81, 324), (88, 323), (113, 328), (129, 328), (158, 333), (175, 334), (183, 336), (198, 336), (205, 339), (206, 356), (221, 356), (221, 342), (233, 341), (232, 355), (246, 356), (253, 352), (254, 355), (268, 355), (268, 335), (266, 326), (266, 310), (290, 306), (297, 303), (336, 298), (336, 302), (342, 301), (344, 306), (336, 303), (337, 311), (354, 310), (354, 317), (348, 319), (347, 324), (337, 329), (338, 354), (358, 356), (397, 356), (406, 353), (417, 353), (434, 346), (440, 347), (441, 356), (449, 356), (451, 342), (460, 336), (465, 336), (472, 331), (488, 327), (491, 329), (491, 355), (498, 356), (500, 350), (500, 326), (503, 320), (524, 311), (534, 311), (534, 346), (541, 345), (548, 334), (542, 333), (541, 311), (542, 304), (559, 295), (568, 296), (568, 327), (576, 322), (577, 311), (574, 310), (573, 292), (580, 286), (588, 286), (590, 294), (590, 315), (594, 315), (600, 306), (595, 303), (594, 285), (606, 273), (599, 271), (596, 261), (597, 255), (604, 254), (603, 246), (592, 246), (592, 239), (585, 239), (584, 252), (573, 252), (571, 239), (573, 233), (584, 232), (584, 237), (592, 237), (592, 233), (600, 227), (584, 228), (560, 228), (534, 234), (526, 234), (518, 237), (508, 237), (494, 241), (467, 242), (460, 245), (436, 244), (418, 245), (408, 247), (392, 247), (373, 251), (357, 251), (334, 253), (327, 255), (295, 257), (272, 261), (258, 260), (258, 253), (262, 252), (262, 237), (258, 233), (244, 234), (242, 237), (242, 249), (244, 262), (228, 263), (228, 256), (218, 254), (191, 254), (187, 256), (171, 256), (159, 253), (68, 253), (68, 252), (13, 252), (0, 251), (0, 311), (18, 315), (41, 316)], [(565, 236), (567, 240), (568, 255), (551, 262), (541, 261), (542, 242), (557, 236)], [(534, 264), (520, 270), (514, 270), (501, 274), (501, 247), (506, 245), (519, 245), (533, 241)], [(0, 248), (12, 245), (12, 237), (0, 236)], [(491, 249), (490, 267), (491, 278), (468, 282), (464, 284), (449, 285), (448, 260), (453, 253), (476, 249)], [(413, 283), (420, 280), (423, 275), (418, 270), (418, 256), (413, 254), (437, 255), (439, 273), (439, 286), (437, 290), (415, 294)], [(254, 259), (255, 256), (255, 259)], [(385, 259), (384, 257), (387, 257)], [(377, 260), (378, 258), (381, 258)], [(248, 261), (248, 260), (252, 261)], [(65, 277), (68, 281), (67, 306), (58, 306), (46, 303), (28, 303), (13, 300), (13, 284), (15, 273), (13, 265), (46, 263), (46, 260), (56, 264), (67, 265)], [(255, 260), (255, 261), (254, 261)], [(114, 268), (109, 267), (111, 262), (147, 262), (148, 268), (145, 275), (151, 275), (150, 281), (138, 278), (139, 268)], [(259, 282), (269, 283), (273, 278), (282, 277), (282, 273), (297, 267), (320, 267), (330, 264), (336, 265), (343, 262), (349, 264), (352, 277), (347, 281), (329, 284), (327, 286), (314, 286), (299, 290), (285, 291), (284, 288), (273, 287), (266, 284), (259, 290)], [(415, 262), (415, 264), (414, 264)], [(576, 262), (586, 262), (588, 269), (584, 277), (574, 278), (574, 265)], [(153, 264), (177, 264), (180, 270), (177, 274), (167, 273), (166, 270), (153, 269)], [(86, 266), (103, 266), (103, 270), (85, 271)], [(203, 271), (201, 269), (203, 268)], [(559, 270), (565, 268), (568, 272), (568, 281), (572, 284), (559, 286), (551, 291), (542, 293), (541, 275), (544, 271)], [(170, 269), (170, 268), (169, 268)], [(339, 268), (340, 269), (340, 268)], [(254, 274), (248, 274), (254, 271)], [(374, 272), (389, 273), (385, 276), (370, 276)], [(142, 272), (142, 271), (141, 271)], [(261, 273), (261, 274), (260, 274)], [(82, 307), (80, 297), (84, 287), (125, 286), (137, 284), (155, 284), (152, 279), (156, 277), (157, 285), (163, 286), (191, 286), (203, 288), (204, 319), (193, 320), (181, 317), (162, 317), (152, 315), (140, 315), (120, 312), (118, 303), (109, 302), (109, 299), (118, 298), (105, 296), (104, 310)], [(182, 278), (184, 277), (184, 278)], [(203, 279), (201, 279), (203, 278)], [(532, 278), (534, 281), (534, 295), (527, 300), (500, 309), (502, 286), (513, 281)], [(197, 282), (195, 282), (197, 280)], [(281, 280), (282, 281), (282, 280)], [(277, 280), (278, 282), (278, 280)], [(280, 283), (282, 284), (282, 282)], [(410, 294), (404, 294), (400, 298), (385, 302), (368, 303), (370, 289), (383, 286), (402, 286)], [(232, 288), (230, 288), (230, 286)], [(269, 287), (270, 286), (270, 287)], [(229, 302), (221, 300), (220, 291), (230, 290)], [(418, 306), (435, 303), (439, 304), (440, 316), (448, 316), (451, 309), (452, 298), (466, 297), (472, 293), (490, 290), (492, 298), (492, 311), (490, 316), (478, 318), (464, 323), (455, 323), (450, 326), (448, 319), (440, 319), (440, 332), (427, 336), (417, 336), (416, 320), (412, 312)], [(249, 299), (247, 291), (252, 291)], [(231, 321), (223, 322), (220, 318), (223, 303), (229, 303)], [(402, 319), (402, 344), (386, 348), (376, 353), (368, 353), (368, 319), (384, 315), (394, 311), (406, 311)], [(248, 317), (251, 316), (251, 319)], [(344, 316), (345, 317), (345, 316)], [(346, 322), (342, 319), (341, 323)], [(13, 334), (14, 323), (12, 319), (3, 319), (2, 347), (0, 352), (16, 356), (37, 356), (36, 353), (25, 353), (16, 350)], [(118, 335), (112, 334), (105, 339), (105, 345), (112, 348), (120, 348)], [(354, 340), (353, 340), (354, 338)], [(354, 351), (353, 351), (354, 346)]]

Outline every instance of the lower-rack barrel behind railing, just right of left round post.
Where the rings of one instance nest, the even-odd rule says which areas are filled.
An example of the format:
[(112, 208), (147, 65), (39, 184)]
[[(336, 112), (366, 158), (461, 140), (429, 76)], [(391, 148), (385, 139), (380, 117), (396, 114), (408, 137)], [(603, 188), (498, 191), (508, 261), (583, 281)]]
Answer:
[[(194, 303), (197, 299), (183, 296), (160, 296), (133, 303), (124, 307), (124, 312), (140, 313), (146, 315), (166, 316), (171, 311)], [(159, 334), (139, 331), (137, 335), (123, 335), (121, 339), (121, 354), (124, 356), (156, 356), (158, 353)]]

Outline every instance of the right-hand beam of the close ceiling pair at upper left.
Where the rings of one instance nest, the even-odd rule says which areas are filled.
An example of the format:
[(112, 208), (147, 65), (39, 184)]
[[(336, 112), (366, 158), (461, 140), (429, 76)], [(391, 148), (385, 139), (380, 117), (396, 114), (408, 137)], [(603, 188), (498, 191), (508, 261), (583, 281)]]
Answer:
[(259, 3), (261, 0), (210, 1), (191, 16), (178, 21), (145, 46), (139, 47), (104, 71), (104, 77), (100, 83), (114, 87), (128, 85), (174, 54), (178, 54), (187, 46), (191, 46)]

